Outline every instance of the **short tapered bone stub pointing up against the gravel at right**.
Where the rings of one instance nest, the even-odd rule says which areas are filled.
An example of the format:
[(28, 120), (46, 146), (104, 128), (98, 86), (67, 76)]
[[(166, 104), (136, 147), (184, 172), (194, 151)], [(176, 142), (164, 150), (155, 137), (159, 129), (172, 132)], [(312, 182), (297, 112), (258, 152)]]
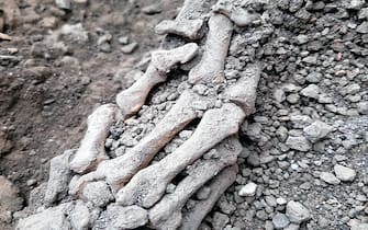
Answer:
[(225, 99), (239, 105), (246, 116), (255, 111), (259, 77), (260, 67), (252, 65), (247, 67), (236, 83), (227, 87), (223, 93)]

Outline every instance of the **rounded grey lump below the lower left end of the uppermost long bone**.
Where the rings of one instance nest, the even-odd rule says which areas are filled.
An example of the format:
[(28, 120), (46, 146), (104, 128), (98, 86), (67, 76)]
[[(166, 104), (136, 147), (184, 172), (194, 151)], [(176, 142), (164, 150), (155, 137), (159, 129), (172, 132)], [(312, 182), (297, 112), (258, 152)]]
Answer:
[(114, 199), (108, 184), (102, 181), (88, 183), (83, 189), (83, 197), (99, 207)]

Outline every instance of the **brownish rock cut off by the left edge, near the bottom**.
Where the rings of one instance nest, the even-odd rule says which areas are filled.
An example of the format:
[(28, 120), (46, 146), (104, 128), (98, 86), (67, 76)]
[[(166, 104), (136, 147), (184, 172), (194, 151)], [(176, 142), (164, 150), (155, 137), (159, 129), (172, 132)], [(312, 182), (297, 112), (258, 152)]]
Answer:
[(19, 189), (7, 177), (0, 175), (0, 214), (18, 211), (23, 207)]

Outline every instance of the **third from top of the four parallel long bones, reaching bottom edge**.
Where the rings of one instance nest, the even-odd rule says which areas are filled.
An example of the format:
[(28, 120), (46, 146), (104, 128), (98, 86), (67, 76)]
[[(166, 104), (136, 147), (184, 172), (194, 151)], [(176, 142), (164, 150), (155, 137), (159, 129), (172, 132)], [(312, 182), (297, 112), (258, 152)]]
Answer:
[(219, 158), (196, 161), (194, 169), (178, 184), (175, 192), (165, 195), (149, 210), (150, 227), (155, 229), (177, 229), (181, 223), (181, 208), (186, 205), (186, 202), (222, 169), (236, 163), (237, 156), (242, 151), (242, 145), (236, 137), (230, 137), (211, 151), (215, 151)]

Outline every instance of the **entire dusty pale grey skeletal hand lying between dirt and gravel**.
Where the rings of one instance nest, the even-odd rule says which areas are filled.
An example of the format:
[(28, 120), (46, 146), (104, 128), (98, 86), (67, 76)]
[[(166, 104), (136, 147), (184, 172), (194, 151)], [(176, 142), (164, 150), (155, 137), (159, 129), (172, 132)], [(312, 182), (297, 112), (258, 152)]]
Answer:
[[(197, 84), (212, 89), (225, 85), (225, 89), (221, 94), (209, 95), (186, 90), (148, 135), (124, 154), (110, 159), (104, 150), (110, 127), (136, 114), (149, 91), (166, 81), (172, 68), (192, 60), (199, 47), (197, 43), (188, 43), (152, 53), (144, 76), (118, 94), (118, 106), (101, 105), (88, 117), (88, 129), (79, 149), (76, 152), (66, 151), (52, 160), (45, 202), (52, 206), (60, 200), (67, 187), (69, 198), (66, 200), (74, 198), (77, 202), (64, 202), (22, 219), (18, 229), (51, 228), (47, 225), (55, 222), (35, 221), (47, 214), (69, 216), (69, 221), (60, 223), (68, 226), (65, 229), (69, 226), (70, 229), (99, 229), (98, 219), (102, 215), (87, 208), (90, 205), (86, 204), (91, 203), (100, 210), (105, 209), (108, 229), (142, 226), (167, 230), (198, 229), (219, 197), (235, 181), (236, 159), (242, 151), (236, 134), (244, 118), (255, 110), (259, 67), (248, 65), (244, 74), (232, 84), (226, 84), (224, 78), (233, 23), (245, 26), (255, 19), (244, 8), (248, 3), (249, 0), (220, 0), (211, 7), (211, 0), (186, 0), (176, 20), (158, 24), (158, 34), (176, 34), (189, 39), (198, 39), (205, 34), (203, 54), (189, 71), (188, 82), (193, 85), (192, 89)], [(191, 137), (174, 152), (149, 165), (158, 151), (197, 118), (200, 123)], [(183, 171), (186, 177), (168, 193), (172, 180)], [(200, 192), (205, 195), (201, 199), (192, 199)], [(77, 218), (77, 212), (80, 218)], [(86, 220), (86, 216), (90, 218)]]

